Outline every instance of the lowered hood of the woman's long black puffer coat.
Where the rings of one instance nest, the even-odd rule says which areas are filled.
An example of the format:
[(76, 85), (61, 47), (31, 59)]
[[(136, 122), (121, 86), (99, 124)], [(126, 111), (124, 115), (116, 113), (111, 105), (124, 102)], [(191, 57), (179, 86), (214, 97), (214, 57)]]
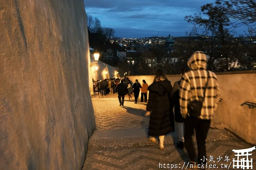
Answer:
[(153, 82), (148, 86), (149, 92), (155, 92), (159, 96), (164, 96), (171, 86), (171, 82), (169, 80), (157, 81)]

